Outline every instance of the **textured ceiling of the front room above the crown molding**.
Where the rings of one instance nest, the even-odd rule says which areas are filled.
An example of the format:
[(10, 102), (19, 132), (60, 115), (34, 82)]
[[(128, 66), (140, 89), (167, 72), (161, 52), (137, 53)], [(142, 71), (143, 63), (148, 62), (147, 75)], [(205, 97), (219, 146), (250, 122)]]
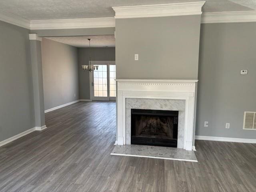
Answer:
[[(112, 17), (112, 6), (196, 2), (200, 0), (0, 0), (0, 10), (28, 20)], [(205, 0), (203, 12), (256, 9), (256, 0)]]

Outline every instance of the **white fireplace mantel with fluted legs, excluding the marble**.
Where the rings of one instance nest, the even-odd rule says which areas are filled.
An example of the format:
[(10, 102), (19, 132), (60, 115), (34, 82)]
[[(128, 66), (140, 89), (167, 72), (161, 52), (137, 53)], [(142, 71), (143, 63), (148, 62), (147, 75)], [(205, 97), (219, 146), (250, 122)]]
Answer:
[(185, 100), (184, 149), (192, 150), (194, 103), (198, 80), (116, 79), (117, 144), (126, 144), (126, 98)]

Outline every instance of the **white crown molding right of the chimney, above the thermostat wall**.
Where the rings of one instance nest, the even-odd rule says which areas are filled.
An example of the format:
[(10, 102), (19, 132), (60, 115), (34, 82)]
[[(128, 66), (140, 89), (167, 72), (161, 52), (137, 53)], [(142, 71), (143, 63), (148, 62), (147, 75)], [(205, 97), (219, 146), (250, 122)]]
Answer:
[(203, 13), (201, 23), (256, 22), (256, 11)]

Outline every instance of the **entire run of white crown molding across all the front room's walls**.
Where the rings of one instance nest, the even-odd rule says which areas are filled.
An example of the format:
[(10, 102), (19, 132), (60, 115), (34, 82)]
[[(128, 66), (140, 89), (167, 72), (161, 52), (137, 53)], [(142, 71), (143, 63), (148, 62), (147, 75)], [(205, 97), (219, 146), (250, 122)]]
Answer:
[[(193, 3), (198, 3), (193, 7)], [(180, 6), (186, 10), (178, 11), (170, 4), (159, 5), (142, 5), (142, 6), (123, 6), (113, 7), (118, 14), (122, 16), (115, 16), (115, 18), (139, 18), (139, 17), (159, 17), (159, 16), (177, 16), (177, 15), (192, 15), (201, 14), (200, 4), (203, 2), (182, 3), (188, 6)], [(189, 5), (190, 4), (190, 5)], [(173, 4), (171, 4), (173, 5)], [(154, 10), (156, 6), (156, 10)], [(174, 6), (174, 5), (173, 5)], [(191, 7), (190, 7), (191, 6)], [(143, 8), (145, 7), (145, 9)], [(148, 7), (148, 8), (147, 8)], [(162, 7), (162, 8), (161, 8)], [(150, 9), (151, 8), (151, 9)], [(165, 9), (163, 9), (165, 8)], [(179, 8), (179, 6), (177, 6)], [(148, 10), (147, 10), (148, 9)], [(196, 12), (190, 9), (197, 9)], [(200, 9), (200, 11), (198, 11)], [(174, 12), (172, 12), (174, 11)], [(153, 13), (152, 13), (153, 12)], [(123, 14), (127, 14), (126, 16)], [(135, 14), (135, 15), (134, 15)], [(79, 19), (58, 19), (58, 20), (27, 20), (20, 16), (0, 11), (0, 20), (20, 26), (30, 30), (44, 30), (44, 29), (78, 29), (78, 28), (106, 28), (115, 27), (114, 17), (105, 18), (79, 18)], [(233, 23), (233, 22), (256, 22), (256, 11), (229, 11), (229, 12), (206, 12), (202, 14), (201, 23)]]

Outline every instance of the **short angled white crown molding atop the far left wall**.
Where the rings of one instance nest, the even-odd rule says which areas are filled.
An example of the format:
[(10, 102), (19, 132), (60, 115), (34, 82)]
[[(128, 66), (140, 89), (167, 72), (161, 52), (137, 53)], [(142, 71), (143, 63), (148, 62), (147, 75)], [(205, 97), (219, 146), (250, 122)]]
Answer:
[(19, 27), (30, 29), (30, 21), (20, 16), (0, 11), (0, 20)]

